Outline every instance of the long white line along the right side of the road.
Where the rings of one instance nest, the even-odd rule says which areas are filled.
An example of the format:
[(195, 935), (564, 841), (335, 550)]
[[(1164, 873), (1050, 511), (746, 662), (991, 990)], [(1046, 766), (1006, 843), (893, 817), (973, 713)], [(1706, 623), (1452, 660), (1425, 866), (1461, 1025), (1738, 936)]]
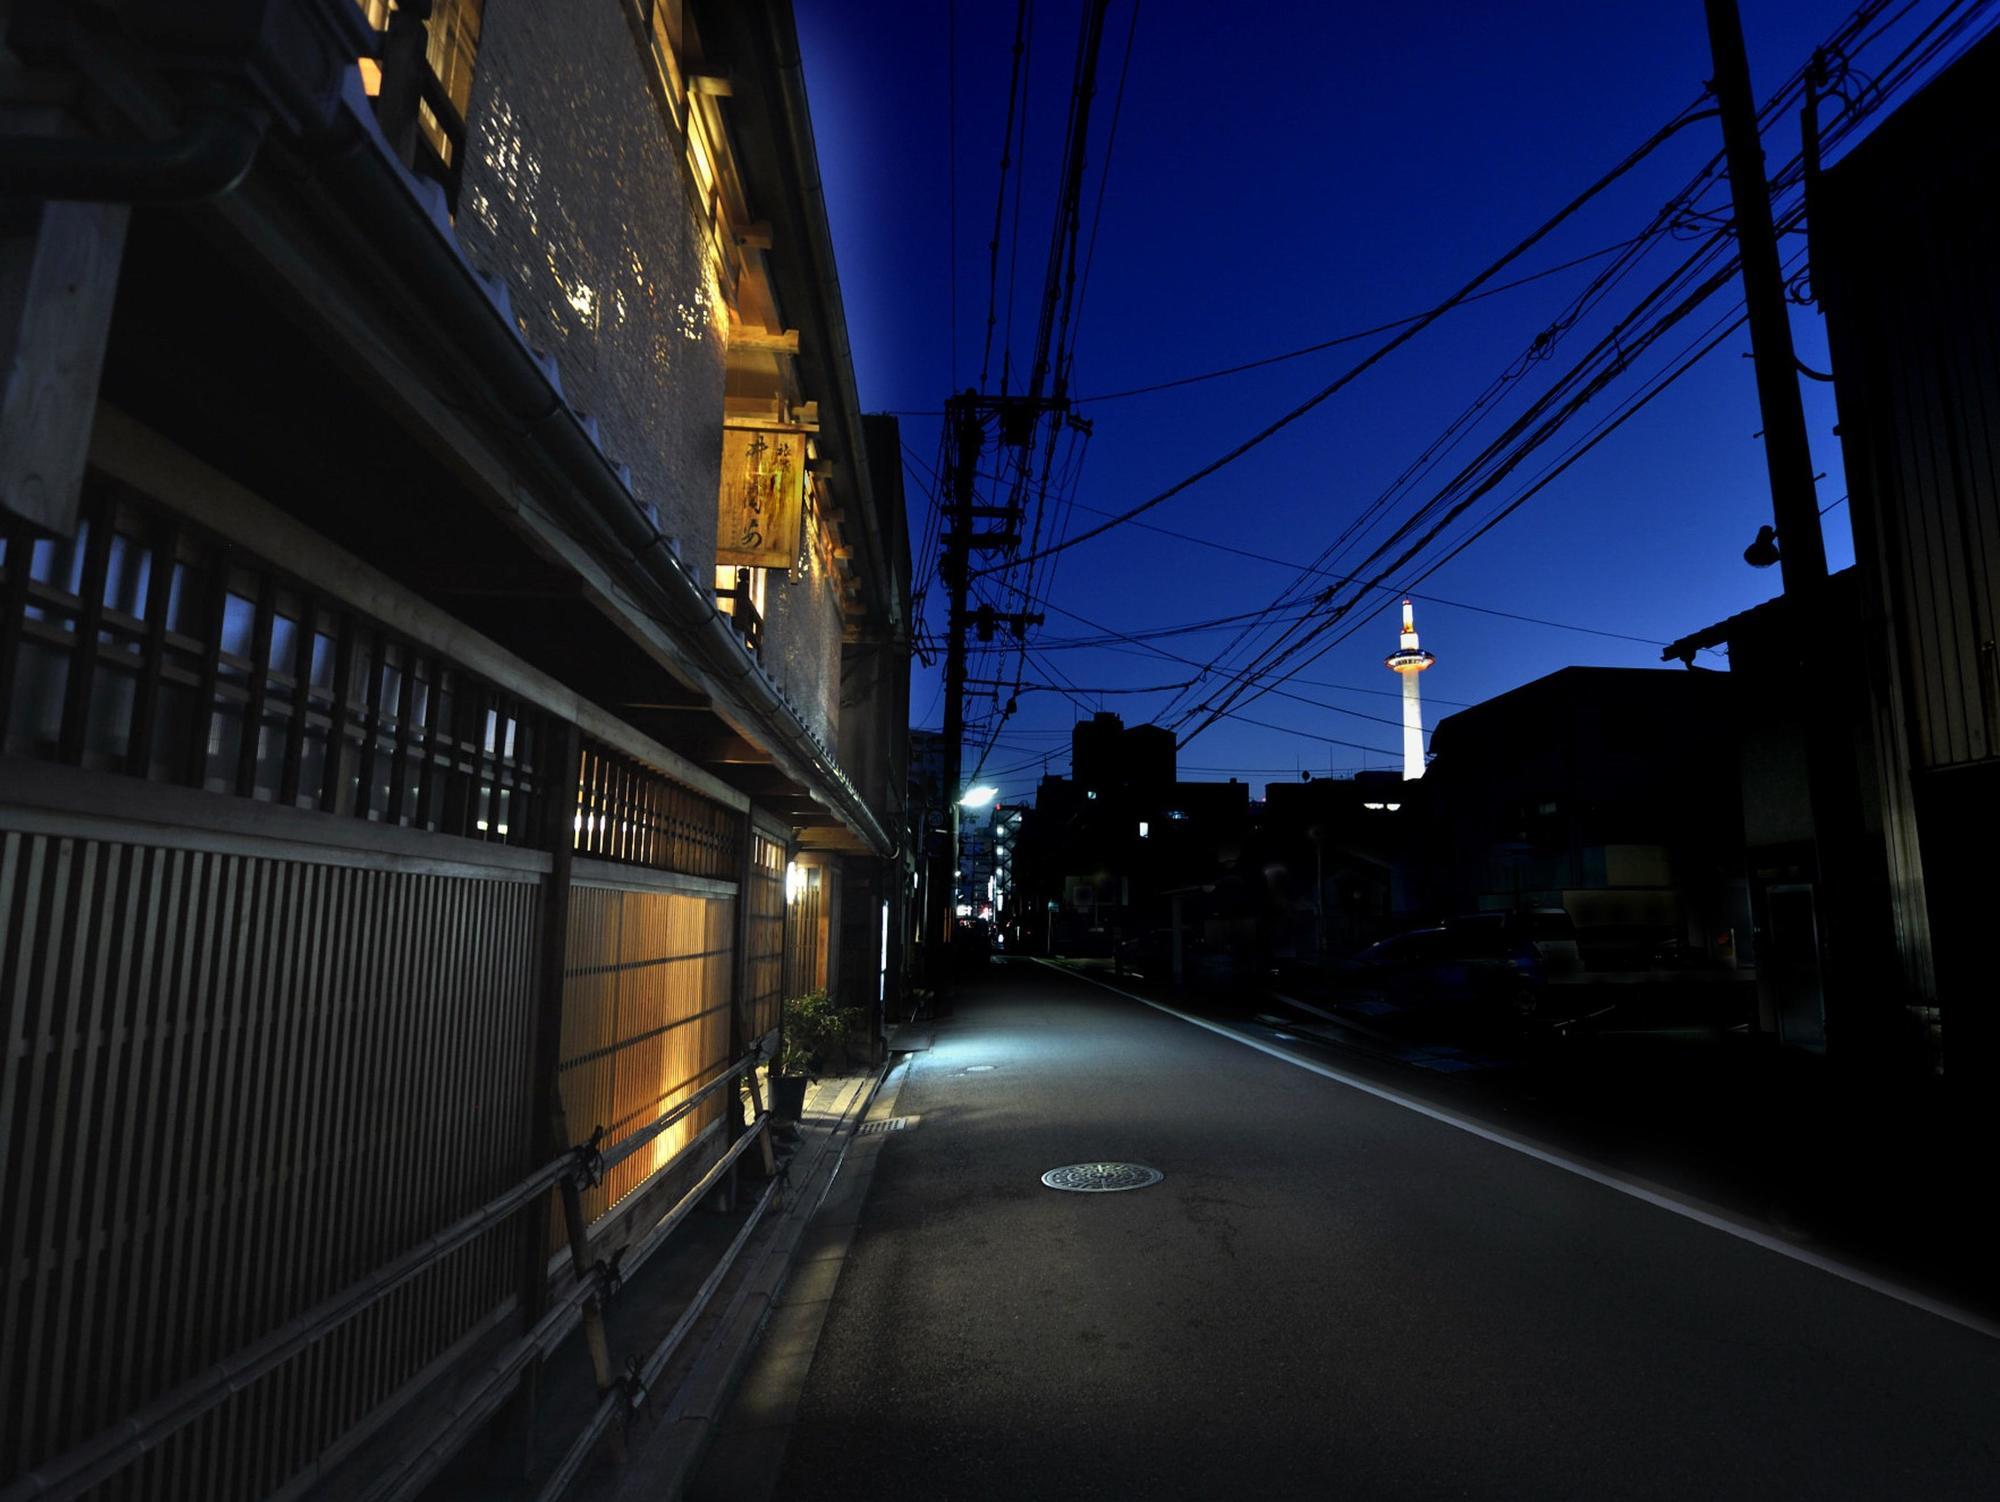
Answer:
[[(1048, 960), (1036, 960), (1036, 964), (1048, 964)], [(1804, 1262), (1808, 1268), (1830, 1272), (1832, 1276), (1844, 1282), (1856, 1284), (1858, 1288), (1868, 1288), (1870, 1292), (1882, 1294), (1884, 1298), (1894, 1298), (1898, 1304), (1908, 1304), (1910, 1308), (1924, 1310), (1926, 1314), (1936, 1314), (1940, 1320), (1950, 1320), (1952, 1324), (1962, 1326), (1966, 1330), (1974, 1330), (1976, 1334), (1982, 1334), (1988, 1340), (2000, 1340), (2000, 1322), (1988, 1320), (1986, 1316), (1974, 1314), (1972, 1310), (1962, 1310), (1954, 1304), (1944, 1304), (1936, 1298), (1930, 1298), (1928, 1294), (1920, 1294), (1918, 1290), (1906, 1288), (1904, 1284), (1898, 1282), (1890, 1282), (1888, 1278), (1878, 1278), (1872, 1272), (1848, 1266), (1846, 1262), (1836, 1262), (1828, 1256), (1820, 1256), (1818, 1252), (1810, 1252), (1802, 1246), (1792, 1246), (1790, 1242), (1772, 1236), (1768, 1230), (1752, 1226), (1750, 1222), (1716, 1206), (1702, 1204), (1700, 1200), (1676, 1194), (1674, 1190), (1662, 1188), (1658, 1184), (1648, 1184), (1642, 1178), (1630, 1178), (1626, 1174), (1612, 1172), (1610, 1168), (1598, 1168), (1594, 1164), (1580, 1162), (1566, 1154), (1554, 1152), (1552, 1148), (1544, 1148), (1536, 1142), (1528, 1142), (1526, 1138), (1518, 1138), (1512, 1132), (1502, 1132), (1498, 1128), (1486, 1126), (1484, 1122), (1476, 1122), (1470, 1116), (1460, 1116), (1450, 1110), (1440, 1110), (1438, 1106), (1432, 1106), (1414, 1096), (1406, 1096), (1400, 1090), (1390, 1090), (1386, 1086), (1374, 1084), (1372, 1080), (1364, 1080), (1358, 1074), (1336, 1070), (1334, 1066), (1322, 1064), (1314, 1058), (1300, 1058), (1298, 1054), (1286, 1048), (1272, 1048), (1260, 1038), (1236, 1032), (1234, 1028), (1226, 1028), (1220, 1022), (1210, 1022), (1208, 1018), (1192, 1016), (1190, 1012), (1182, 1012), (1180, 1008), (1168, 1006), (1166, 1002), (1156, 1002), (1150, 996), (1140, 996), (1138, 992), (1124, 990), (1122, 986), (1112, 986), (1110, 982), (1098, 980), (1096, 976), (1078, 974), (1074, 970), (1064, 970), (1062, 966), (1054, 964), (1048, 964), (1048, 968), (1054, 970), (1056, 974), (1072, 976), (1074, 980), (1088, 980), (1092, 986), (1102, 986), (1114, 996), (1124, 996), (1128, 1000), (1138, 1002), (1140, 1006), (1150, 1006), (1154, 1012), (1166, 1012), (1168, 1016), (1180, 1018), (1182, 1022), (1190, 1022), (1196, 1028), (1206, 1028), (1208, 1032), (1228, 1038), (1230, 1042), (1238, 1042), (1244, 1048), (1254, 1048), (1260, 1054), (1268, 1054), (1270, 1058), (1276, 1058), (1284, 1064), (1292, 1064), (1294, 1068), (1306, 1070), (1308, 1074), (1318, 1074), (1320, 1078), (1332, 1080), (1334, 1084), (1344, 1084), (1350, 1090), (1360, 1090), (1364, 1096), (1374, 1096), (1376, 1100), (1386, 1100), (1392, 1106), (1402, 1106), (1404, 1110), (1412, 1110), (1418, 1116), (1428, 1116), (1430, 1120), (1440, 1122), (1444, 1126), (1458, 1128), (1460, 1132), (1470, 1132), (1472, 1136), (1492, 1142), (1494, 1146), (1508, 1148), (1526, 1158), (1534, 1158), (1536, 1162), (1544, 1162), (1550, 1168), (1560, 1168), (1566, 1174), (1588, 1178), (1592, 1184), (1602, 1184), (1604, 1188), (1616, 1190), (1618, 1194), (1626, 1194), (1634, 1200), (1644, 1200), (1646, 1204), (1666, 1210), (1668, 1214), (1682, 1216), (1684, 1220), (1694, 1220), (1696, 1224), (1708, 1226), (1710, 1230), (1720, 1230), (1726, 1236), (1750, 1242), (1752, 1246), (1762, 1246), (1766, 1252), (1776, 1252), (1778, 1256), (1790, 1258), (1792, 1262)]]

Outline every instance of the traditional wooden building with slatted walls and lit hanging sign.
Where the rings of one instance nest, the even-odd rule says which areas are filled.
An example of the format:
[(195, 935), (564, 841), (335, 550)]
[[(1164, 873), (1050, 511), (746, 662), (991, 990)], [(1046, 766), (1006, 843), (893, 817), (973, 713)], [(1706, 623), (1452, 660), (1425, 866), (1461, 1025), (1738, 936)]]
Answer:
[(412, 1494), (900, 974), (790, 6), (0, 16), (0, 1492)]

